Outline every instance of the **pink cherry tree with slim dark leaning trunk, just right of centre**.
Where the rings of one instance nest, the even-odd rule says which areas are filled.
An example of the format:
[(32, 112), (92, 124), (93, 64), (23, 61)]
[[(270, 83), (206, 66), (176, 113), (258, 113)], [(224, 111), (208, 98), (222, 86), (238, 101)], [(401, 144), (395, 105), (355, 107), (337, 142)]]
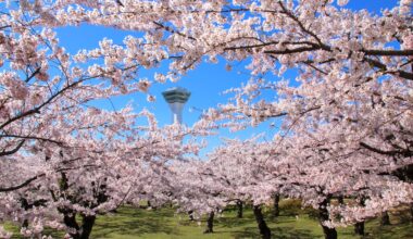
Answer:
[(228, 141), (210, 155), (216, 177), (226, 185), (228, 199), (252, 201), (253, 213), (262, 238), (271, 238), (262, 205), (267, 204), (277, 183), (266, 167), (266, 161), (275, 160), (267, 143), (256, 143), (254, 138), (246, 141)]

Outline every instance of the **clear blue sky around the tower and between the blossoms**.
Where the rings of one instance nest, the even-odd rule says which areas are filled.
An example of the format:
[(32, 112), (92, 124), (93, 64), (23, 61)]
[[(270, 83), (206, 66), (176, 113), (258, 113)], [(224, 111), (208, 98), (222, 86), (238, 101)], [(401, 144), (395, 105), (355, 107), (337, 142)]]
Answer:
[[(370, 12), (379, 14), (381, 9), (392, 8), (396, 3), (397, 0), (350, 0), (350, 3), (346, 8), (353, 10), (367, 9)], [(58, 29), (61, 45), (71, 53), (76, 53), (79, 49), (97, 48), (99, 41), (104, 37), (113, 39), (115, 43), (122, 43), (125, 36), (137, 36), (138, 34), (139, 33), (90, 25), (82, 25), (77, 27), (71, 26)], [(162, 72), (162, 67), (158, 71)], [(141, 76), (152, 78), (153, 71), (142, 71)], [(293, 74), (290, 74), (290, 76), (293, 77)], [(204, 110), (216, 106), (218, 103), (225, 103), (228, 96), (224, 96), (222, 92), (228, 88), (240, 86), (241, 83), (248, 81), (249, 77), (249, 72), (245, 68), (245, 63), (235, 66), (230, 72), (225, 70), (224, 61), (220, 61), (218, 64), (203, 63), (195, 71), (189, 72), (188, 75), (184, 76), (178, 83), (154, 85), (150, 89), (150, 93), (157, 97), (157, 101), (153, 103), (147, 102), (145, 95), (135, 93), (112, 99), (112, 103), (99, 101), (98, 104), (99, 106), (107, 109), (111, 109), (113, 104), (114, 108), (118, 110), (127, 102), (133, 101), (134, 106), (136, 106), (138, 111), (147, 108), (153, 112), (162, 126), (171, 123), (171, 111), (166, 102), (163, 100), (161, 92), (170, 87), (180, 86), (191, 91), (191, 97), (184, 109), (184, 123), (192, 125), (199, 118), (201, 112), (197, 110), (189, 111), (190, 108)], [(254, 134), (266, 131), (267, 134), (270, 133), (268, 138), (271, 138), (272, 135), (276, 133), (276, 128), (270, 128), (268, 130), (268, 124), (270, 123), (266, 123), (256, 128), (249, 128), (237, 134), (221, 130), (221, 136), (249, 138)], [(217, 137), (209, 138), (209, 140), (211, 143), (204, 152), (211, 150), (211, 148), (218, 143)]]

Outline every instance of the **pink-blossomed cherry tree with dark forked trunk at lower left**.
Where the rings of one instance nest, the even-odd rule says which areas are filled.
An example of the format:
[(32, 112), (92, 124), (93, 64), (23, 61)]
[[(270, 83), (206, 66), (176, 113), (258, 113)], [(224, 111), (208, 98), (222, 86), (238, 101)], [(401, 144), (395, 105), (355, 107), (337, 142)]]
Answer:
[[(148, 112), (141, 114), (153, 120)], [(3, 162), (10, 172), (2, 178), (4, 184), (36, 175), (25, 187), (2, 197), (9, 205), (2, 210), (3, 218), (23, 224), (23, 235), (39, 235), (48, 226), (65, 229), (72, 238), (88, 238), (98, 215), (125, 202), (168, 202), (167, 164), (199, 150), (193, 142), (182, 142), (192, 129), (177, 125), (161, 129), (153, 122), (147, 128), (137, 127), (134, 121), (139, 115), (127, 112), (96, 116), (96, 123), (108, 125), (104, 130), (76, 129), (64, 134), (71, 146), (43, 146)]]

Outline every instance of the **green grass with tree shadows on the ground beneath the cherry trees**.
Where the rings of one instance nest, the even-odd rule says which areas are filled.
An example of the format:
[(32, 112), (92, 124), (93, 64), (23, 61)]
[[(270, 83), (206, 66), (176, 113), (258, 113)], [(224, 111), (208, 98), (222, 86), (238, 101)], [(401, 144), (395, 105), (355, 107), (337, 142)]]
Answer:
[[(292, 200), (280, 202), (280, 216), (271, 217), (270, 209), (264, 211), (266, 222), (272, 230), (273, 238), (323, 238), (322, 228), (315, 212), (310, 209), (301, 210), (300, 204)], [(227, 209), (223, 215), (216, 216), (214, 234), (202, 234), (205, 221), (199, 226), (190, 222), (185, 214), (175, 214), (170, 207), (148, 211), (129, 206), (121, 207), (117, 213), (100, 216), (93, 227), (91, 238), (108, 239), (226, 239), (226, 238), (260, 238), (251, 209), (246, 209), (243, 218), (236, 218), (236, 211)], [(379, 226), (378, 219), (366, 223), (365, 238), (399, 239), (413, 238), (413, 227), (406, 211), (390, 213), (391, 226)], [(10, 225), (8, 228), (16, 227)], [(54, 238), (62, 238), (62, 234), (53, 231)], [(339, 238), (358, 238), (353, 227), (338, 228)], [(18, 238), (17, 236), (15, 238)]]

